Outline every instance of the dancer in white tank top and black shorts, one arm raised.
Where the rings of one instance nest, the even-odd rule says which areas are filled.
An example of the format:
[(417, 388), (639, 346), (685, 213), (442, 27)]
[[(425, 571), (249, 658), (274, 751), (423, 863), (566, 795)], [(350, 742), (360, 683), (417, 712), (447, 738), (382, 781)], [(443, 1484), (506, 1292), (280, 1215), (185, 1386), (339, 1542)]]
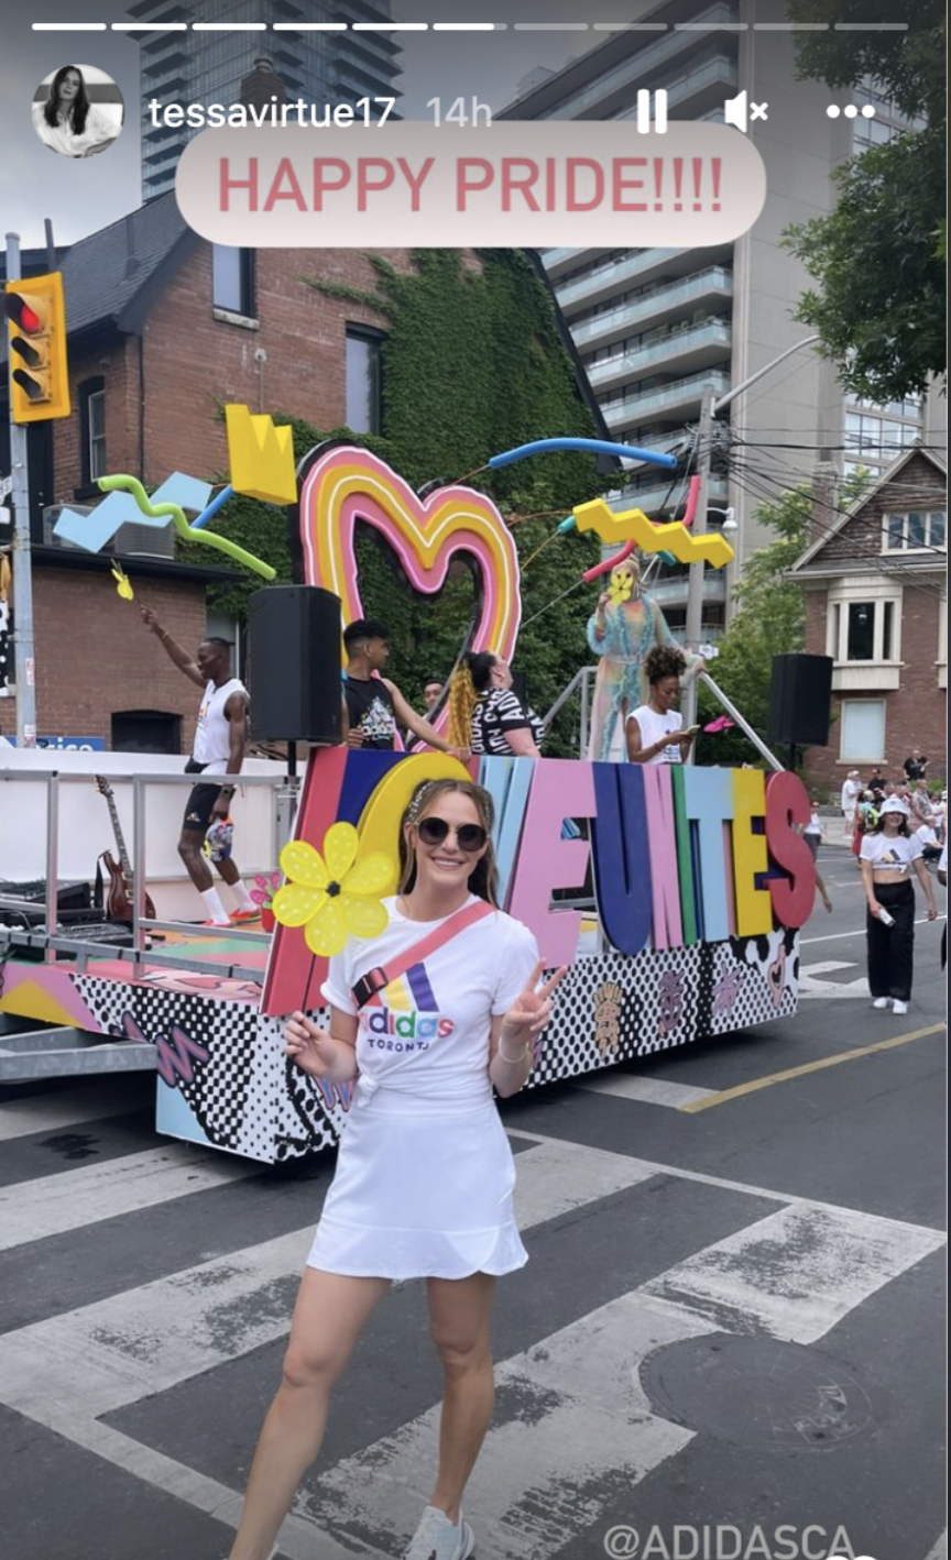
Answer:
[[(226, 640), (201, 640), (192, 658), (162, 629), (151, 607), (142, 607), (142, 621), (166, 647), (180, 672), (203, 690), (192, 757), (186, 774), (237, 777), (244, 763), (248, 733), (248, 694), (242, 682), (231, 675), (231, 646)], [(228, 914), (201, 847), (212, 824), (228, 817), (234, 785), (195, 785), (184, 808), (178, 855), (205, 900), (206, 927), (233, 927), (261, 919), (231, 855), (215, 860), (219, 877), (233, 891), (237, 908)]]

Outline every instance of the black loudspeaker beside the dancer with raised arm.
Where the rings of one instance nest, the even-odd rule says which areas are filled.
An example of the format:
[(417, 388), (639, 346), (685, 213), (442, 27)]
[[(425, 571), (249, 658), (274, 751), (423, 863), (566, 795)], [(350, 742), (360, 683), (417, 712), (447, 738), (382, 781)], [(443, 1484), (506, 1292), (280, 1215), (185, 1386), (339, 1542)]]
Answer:
[(251, 736), (265, 743), (344, 739), (340, 597), (315, 585), (269, 585), (248, 602)]

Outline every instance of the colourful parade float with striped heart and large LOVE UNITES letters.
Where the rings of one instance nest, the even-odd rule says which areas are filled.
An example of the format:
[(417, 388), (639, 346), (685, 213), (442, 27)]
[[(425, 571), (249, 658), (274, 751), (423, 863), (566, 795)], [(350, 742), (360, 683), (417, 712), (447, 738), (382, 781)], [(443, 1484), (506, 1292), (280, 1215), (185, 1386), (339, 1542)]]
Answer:
[[(518, 558), (487, 493), (467, 482), (415, 493), (376, 456), (347, 443), (312, 451), (295, 471), (289, 429), (244, 407), (228, 409), (228, 431), (231, 484), (215, 499), (181, 474), (151, 498), (134, 479), (112, 476), (100, 485), (116, 512), (103, 516), (103, 504), (94, 516), (64, 515), (64, 532), (95, 551), (131, 504), (139, 519), (175, 524), (269, 579), (267, 565), (205, 529), (231, 491), (247, 493), (287, 507), (300, 588), (339, 601), (340, 632), (364, 610), (354, 551), (361, 526), (392, 549), (423, 596), (436, 596), (451, 563), (464, 558), (476, 591), (461, 654), (517, 654)], [(509, 451), (486, 470), (543, 459), (562, 443)], [(592, 441), (572, 441), (579, 443)], [(671, 463), (645, 451), (625, 454)], [(189, 505), (198, 512), (192, 521)], [(81, 524), (87, 518), (95, 535)], [(598, 535), (607, 555), (584, 577), (612, 577), (618, 613), (628, 616), (634, 587), (628, 591), (632, 574), (623, 563), (637, 552), (712, 566), (732, 557), (720, 535), (693, 537), (684, 521), (654, 524), (640, 510), (615, 512), (604, 501), (579, 505), (557, 529)], [(657, 618), (650, 599), (640, 599), (637, 619), (650, 622), (651, 633), (640, 633), (639, 655), (659, 636)], [(639, 660), (629, 647), (623, 654), (632, 697)], [(339, 702), (336, 658), (308, 668), (308, 675), (329, 679)], [(607, 675), (604, 688), (604, 708), (617, 711), (617, 679)], [(439, 730), (447, 719), (440, 710)], [(58, 934), (55, 916), (44, 931), (0, 930), (0, 1014), (151, 1047), (156, 1123), (172, 1137), (267, 1164), (333, 1143), (345, 1129), (351, 1086), (323, 1084), (290, 1065), (284, 1022), (298, 1009), (326, 1019), (326, 961), (348, 936), (372, 936), (386, 925), (381, 902), (397, 886), (403, 810), (422, 778), (448, 775), (490, 791), (500, 902), (532, 930), (548, 966), (568, 966), (528, 1087), (795, 1014), (798, 928), (815, 891), (812, 856), (798, 831), (809, 802), (795, 775), (615, 763), (597, 747), (581, 760), (473, 757), (464, 764), (431, 750), (339, 744), (308, 752), (292, 838), (280, 852), (283, 886), (275, 892), (267, 878), (273, 936), (147, 916), (144, 813), (151, 782), (139, 777), (131, 947), (83, 947)], [(147, 947), (156, 933), (164, 942)], [(412, 991), (390, 997), (379, 1044), (398, 1050), (419, 1039), (415, 1028), (428, 1020)]]

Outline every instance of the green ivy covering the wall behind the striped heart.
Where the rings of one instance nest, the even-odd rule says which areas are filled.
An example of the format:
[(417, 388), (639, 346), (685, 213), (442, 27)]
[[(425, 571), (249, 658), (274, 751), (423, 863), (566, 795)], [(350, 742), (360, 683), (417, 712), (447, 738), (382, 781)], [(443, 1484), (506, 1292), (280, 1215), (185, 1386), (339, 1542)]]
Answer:
[[(298, 460), (325, 438), (348, 438), (373, 449), (419, 488), (434, 479), (468, 476), (490, 456), (532, 438), (598, 437), (559, 340), (548, 289), (518, 251), (420, 250), (412, 256), (411, 273), (395, 271), (383, 256), (370, 261), (375, 292), (326, 284), (319, 273), (301, 278), (301, 287), (372, 303), (384, 317), (384, 435), (315, 429), (297, 421), (294, 407), (275, 407), (275, 421), (294, 426)], [(573, 504), (595, 498), (607, 485), (593, 459), (576, 454), (532, 457), (470, 480), (492, 495), (509, 521), (523, 566)], [(557, 513), (523, 518), (540, 510)], [(290, 580), (281, 510), (233, 499), (220, 529), (267, 558), (280, 582)], [(514, 665), (525, 674), (539, 713), (550, 708), (590, 658), (584, 627), (597, 587), (579, 585), (537, 622), (528, 619), (575, 585), (597, 557), (592, 538), (559, 538), (525, 568), (526, 627)], [(390, 674), (406, 697), (422, 707), (423, 682), (447, 675), (456, 660), (472, 616), (472, 577), (465, 568), (456, 568), (433, 604), (409, 590), (389, 548), (375, 534), (358, 537), (358, 560), (364, 608), (390, 626)], [(215, 605), (244, 616), (247, 597), (258, 588), (251, 577), (240, 580), (219, 591)], [(545, 750), (572, 753), (576, 724), (575, 705), (556, 722)]]

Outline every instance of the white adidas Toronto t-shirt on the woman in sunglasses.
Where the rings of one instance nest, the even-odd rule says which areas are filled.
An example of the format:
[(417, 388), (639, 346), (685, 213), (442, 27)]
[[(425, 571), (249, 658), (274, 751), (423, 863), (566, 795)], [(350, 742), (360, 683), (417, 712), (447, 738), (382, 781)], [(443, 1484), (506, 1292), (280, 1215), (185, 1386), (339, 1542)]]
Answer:
[[(475, 895), (467, 900), (475, 903)], [(423, 942), (440, 922), (406, 920), (387, 899), (389, 925), (373, 939), (351, 938), (329, 961), (322, 986), (340, 1012), (358, 1014), (353, 986), (387, 959)], [(359, 1009), (361, 1076), (433, 1100), (490, 1098), (492, 1017), (525, 991), (539, 945), (520, 920), (497, 909), (473, 922)]]

